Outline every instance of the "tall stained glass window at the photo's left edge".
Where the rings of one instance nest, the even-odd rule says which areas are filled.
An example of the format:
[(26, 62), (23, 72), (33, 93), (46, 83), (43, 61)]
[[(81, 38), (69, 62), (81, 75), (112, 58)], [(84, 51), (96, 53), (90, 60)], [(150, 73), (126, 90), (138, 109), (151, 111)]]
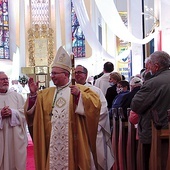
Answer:
[(9, 59), (8, 0), (0, 0), (0, 59)]

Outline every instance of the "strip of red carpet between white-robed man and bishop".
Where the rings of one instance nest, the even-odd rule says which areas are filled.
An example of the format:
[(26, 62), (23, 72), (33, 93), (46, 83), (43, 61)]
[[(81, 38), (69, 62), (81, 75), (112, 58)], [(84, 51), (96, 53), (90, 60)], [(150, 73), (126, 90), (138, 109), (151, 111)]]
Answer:
[(26, 170), (35, 170), (34, 164), (34, 146), (30, 135), (28, 135), (28, 147), (27, 147), (27, 168)]

